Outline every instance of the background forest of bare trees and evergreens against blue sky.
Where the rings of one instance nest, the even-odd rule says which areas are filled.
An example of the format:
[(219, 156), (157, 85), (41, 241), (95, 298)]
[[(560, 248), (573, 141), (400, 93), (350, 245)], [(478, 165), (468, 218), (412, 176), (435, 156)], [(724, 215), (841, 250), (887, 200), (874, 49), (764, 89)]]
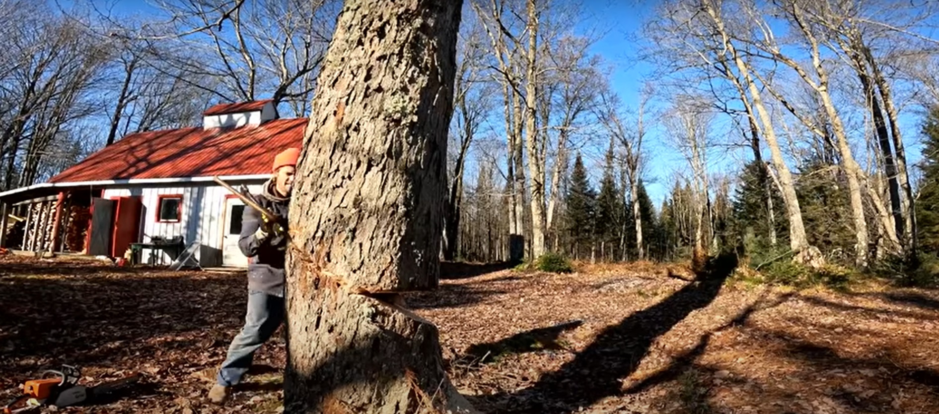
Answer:
[[(281, 116), (306, 116), (340, 7), (167, 0), (129, 14), (0, 0), (0, 16), (18, 22), (0, 31), (0, 190), (43, 182), (131, 132), (198, 126), (218, 102), (274, 98)], [(582, 4), (469, 1), (442, 255), (732, 250), (753, 267), (793, 258), (914, 274), (939, 251), (936, 11), (656, 2), (623, 36), (653, 70), (619, 96)], [(656, 152), (684, 162), (654, 174)], [(669, 188), (661, 203), (652, 181)]]

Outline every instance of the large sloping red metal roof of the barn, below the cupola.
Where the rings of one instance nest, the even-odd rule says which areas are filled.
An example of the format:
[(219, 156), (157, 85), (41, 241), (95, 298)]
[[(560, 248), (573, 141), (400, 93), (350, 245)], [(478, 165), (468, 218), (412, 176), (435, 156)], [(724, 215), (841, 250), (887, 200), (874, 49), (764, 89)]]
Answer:
[(274, 155), (300, 147), (306, 118), (260, 126), (202, 126), (131, 134), (53, 177), (51, 183), (266, 174)]

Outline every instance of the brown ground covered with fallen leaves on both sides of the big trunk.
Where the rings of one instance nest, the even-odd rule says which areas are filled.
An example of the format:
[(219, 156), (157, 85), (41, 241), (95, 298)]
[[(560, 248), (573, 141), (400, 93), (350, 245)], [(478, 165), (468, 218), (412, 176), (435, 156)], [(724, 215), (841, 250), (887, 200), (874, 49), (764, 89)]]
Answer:
[[(725, 276), (447, 266), (439, 290), (408, 304), (439, 326), (454, 384), (485, 412), (937, 412), (939, 292), (795, 291)], [(239, 273), (0, 257), (0, 397), (69, 363), (89, 385), (144, 378), (116, 401), (59, 412), (278, 412), (279, 335), (232, 401), (205, 399), (245, 301)]]

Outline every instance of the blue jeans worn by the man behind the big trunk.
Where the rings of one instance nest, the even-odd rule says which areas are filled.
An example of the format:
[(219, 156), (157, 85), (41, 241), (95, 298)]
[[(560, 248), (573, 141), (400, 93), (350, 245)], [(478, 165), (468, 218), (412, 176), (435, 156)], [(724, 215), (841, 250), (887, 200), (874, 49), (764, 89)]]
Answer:
[(251, 368), (254, 351), (264, 345), (284, 321), (284, 298), (257, 290), (248, 292), (248, 312), (244, 326), (228, 347), (228, 356), (216, 382), (225, 387), (237, 385)]

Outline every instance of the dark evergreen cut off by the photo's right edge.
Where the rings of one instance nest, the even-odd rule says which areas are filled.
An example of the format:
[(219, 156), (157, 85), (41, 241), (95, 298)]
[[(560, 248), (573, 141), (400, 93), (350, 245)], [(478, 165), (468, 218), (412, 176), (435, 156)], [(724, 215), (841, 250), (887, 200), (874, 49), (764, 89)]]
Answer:
[(924, 253), (939, 255), (939, 105), (923, 123), (923, 180), (916, 200), (916, 229)]

